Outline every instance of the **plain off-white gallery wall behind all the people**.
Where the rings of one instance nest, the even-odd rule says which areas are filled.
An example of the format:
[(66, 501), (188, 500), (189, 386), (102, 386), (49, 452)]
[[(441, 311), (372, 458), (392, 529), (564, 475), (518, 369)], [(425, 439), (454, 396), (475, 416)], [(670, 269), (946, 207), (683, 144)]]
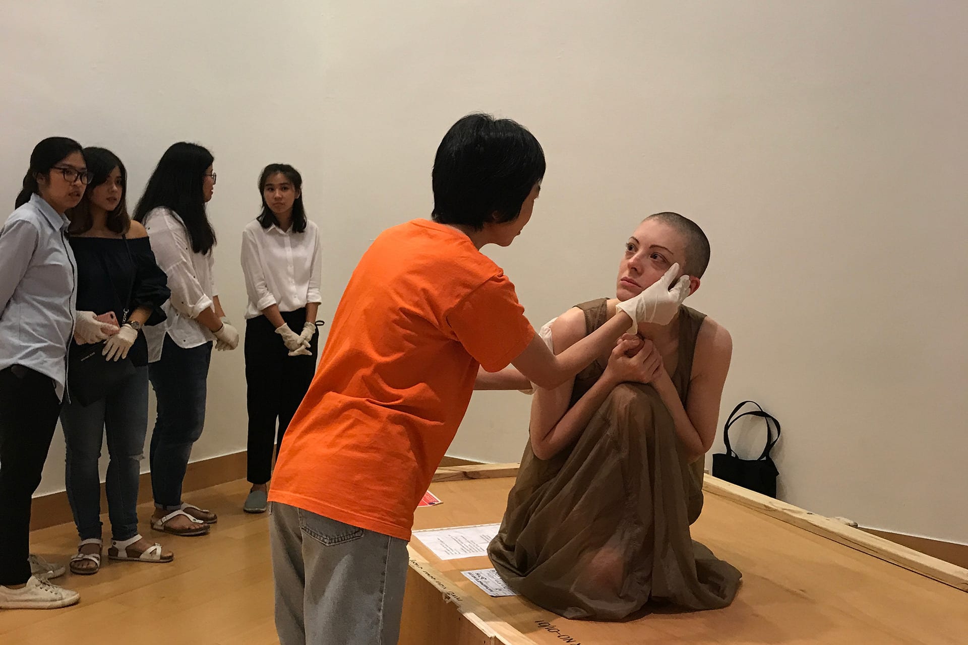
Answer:
[[(735, 341), (723, 407), (752, 397), (781, 420), (784, 498), (968, 542), (964, 3), (82, 10), (5, 9), (9, 201), (48, 134), (114, 149), (135, 195), (167, 144), (205, 144), (223, 301), (241, 320), (257, 172), (291, 162), (322, 230), (328, 319), (369, 240), (429, 213), (447, 127), (471, 110), (513, 117), (548, 175), (525, 235), (489, 252), (533, 322), (609, 295), (645, 215), (694, 218), (713, 253), (690, 304)], [(244, 448), (241, 352), (215, 356), (209, 388), (196, 458)], [(527, 410), (525, 396), (476, 396), (451, 454), (517, 459)], [(42, 492), (62, 487), (62, 451), (58, 439)]]

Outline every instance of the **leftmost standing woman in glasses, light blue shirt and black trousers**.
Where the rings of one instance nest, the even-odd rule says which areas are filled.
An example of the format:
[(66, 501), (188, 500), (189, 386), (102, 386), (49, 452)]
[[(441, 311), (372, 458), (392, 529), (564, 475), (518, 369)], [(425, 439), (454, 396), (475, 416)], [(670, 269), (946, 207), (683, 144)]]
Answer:
[(67, 387), (67, 348), (117, 327), (76, 310), (77, 270), (65, 212), (90, 181), (80, 144), (44, 139), (30, 155), (14, 213), (0, 229), (0, 609), (79, 600), (47, 582), (64, 573), (29, 553), (31, 496), (41, 483)]

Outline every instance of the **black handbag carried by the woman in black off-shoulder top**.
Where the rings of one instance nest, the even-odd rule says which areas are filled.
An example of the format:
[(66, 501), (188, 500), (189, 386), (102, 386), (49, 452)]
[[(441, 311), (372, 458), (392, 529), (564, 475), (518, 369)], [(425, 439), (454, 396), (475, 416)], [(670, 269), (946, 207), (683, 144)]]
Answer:
[[(128, 238), (122, 239), (124, 239), (125, 249), (128, 250), (128, 257), (132, 261), (132, 266), (134, 266), (135, 260), (132, 257), (131, 249), (128, 247)], [(100, 255), (98, 259), (101, 261), (105, 275), (111, 283), (111, 290), (117, 297), (117, 288), (114, 286), (114, 280), (111, 279), (110, 271), (108, 271), (107, 265)], [(128, 322), (134, 288), (133, 282), (132, 291), (129, 291), (128, 299), (124, 301), (125, 304), (122, 307), (124, 316), (121, 325)], [(120, 301), (120, 298), (118, 300)], [(81, 405), (86, 406), (101, 400), (109, 395), (119, 383), (135, 374), (135, 364), (128, 357), (117, 361), (106, 360), (102, 354), (106, 342), (106, 340), (103, 340), (85, 345), (78, 345), (76, 342), (71, 343), (71, 349), (68, 351), (68, 395)]]

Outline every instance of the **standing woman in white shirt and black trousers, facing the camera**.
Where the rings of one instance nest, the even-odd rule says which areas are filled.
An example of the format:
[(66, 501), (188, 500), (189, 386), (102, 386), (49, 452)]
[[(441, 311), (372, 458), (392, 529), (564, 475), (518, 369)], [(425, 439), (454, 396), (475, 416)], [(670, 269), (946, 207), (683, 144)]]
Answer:
[[(248, 480), (243, 510), (264, 513), (272, 456), (282, 444), (316, 371), (319, 229), (306, 220), (302, 176), (270, 163), (258, 178), (262, 212), (242, 231), (249, 409)], [(278, 421), (278, 430), (276, 424)]]

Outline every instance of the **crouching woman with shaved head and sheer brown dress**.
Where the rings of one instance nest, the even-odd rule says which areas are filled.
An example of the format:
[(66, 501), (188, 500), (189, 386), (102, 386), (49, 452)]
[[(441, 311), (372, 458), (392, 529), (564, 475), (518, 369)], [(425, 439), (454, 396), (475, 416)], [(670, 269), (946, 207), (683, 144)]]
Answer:
[[(670, 279), (674, 263), (695, 292), (709, 242), (680, 215), (651, 216), (626, 243), (618, 298), (561, 314), (551, 326), (553, 350), (591, 334), (618, 302)], [(650, 600), (718, 608), (740, 584), (739, 571), (689, 535), (702, 510), (703, 455), (732, 340), (687, 307), (669, 325), (637, 332), (574, 381), (537, 391), (518, 481), (490, 545), (512, 589), (565, 618), (620, 620)]]

